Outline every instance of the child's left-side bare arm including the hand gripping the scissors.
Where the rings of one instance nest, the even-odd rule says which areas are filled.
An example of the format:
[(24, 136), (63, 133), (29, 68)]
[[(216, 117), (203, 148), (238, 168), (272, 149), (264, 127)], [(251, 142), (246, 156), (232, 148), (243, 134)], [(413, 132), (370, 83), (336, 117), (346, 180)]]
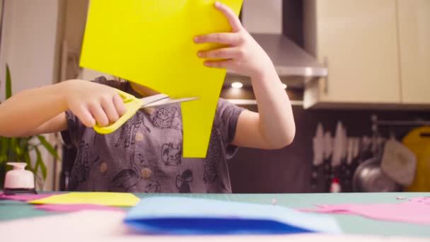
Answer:
[(70, 109), (84, 125), (105, 126), (124, 114), (122, 99), (113, 88), (71, 80), (21, 91), (0, 104), (0, 136), (23, 137), (67, 128)]

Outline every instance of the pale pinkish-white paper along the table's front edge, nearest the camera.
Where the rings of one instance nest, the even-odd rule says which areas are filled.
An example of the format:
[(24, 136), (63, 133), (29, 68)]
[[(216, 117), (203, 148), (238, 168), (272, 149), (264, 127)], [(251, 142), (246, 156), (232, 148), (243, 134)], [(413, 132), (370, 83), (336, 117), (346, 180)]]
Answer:
[(61, 242), (424, 242), (428, 238), (365, 236), (344, 234), (286, 234), (286, 235), (240, 235), (240, 236), (153, 236), (136, 234), (123, 223), (123, 212), (81, 211), (69, 214), (31, 217), (0, 221), (2, 241), (61, 241)]

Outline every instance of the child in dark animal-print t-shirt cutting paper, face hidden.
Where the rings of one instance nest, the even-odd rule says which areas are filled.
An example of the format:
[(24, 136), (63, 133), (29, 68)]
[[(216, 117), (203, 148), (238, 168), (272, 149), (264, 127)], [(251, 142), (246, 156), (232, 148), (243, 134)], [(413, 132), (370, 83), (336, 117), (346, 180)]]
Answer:
[(198, 56), (225, 59), (204, 62), (207, 67), (250, 76), (259, 113), (220, 99), (206, 159), (182, 157), (178, 104), (139, 110), (116, 132), (96, 133), (91, 128), (95, 123), (105, 126), (124, 114), (122, 99), (112, 87), (138, 97), (156, 93), (136, 83), (104, 78), (69, 80), (17, 93), (0, 105), (0, 135), (62, 132), (64, 142), (78, 148), (69, 190), (231, 192), (227, 159), (236, 147), (280, 149), (294, 139), (295, 125), (289, 98), (267, 54), (230, 8), (218, 2), (215, 6), (228, 18), (232, 33), (197, 36), (194, 42), (228, 47)]

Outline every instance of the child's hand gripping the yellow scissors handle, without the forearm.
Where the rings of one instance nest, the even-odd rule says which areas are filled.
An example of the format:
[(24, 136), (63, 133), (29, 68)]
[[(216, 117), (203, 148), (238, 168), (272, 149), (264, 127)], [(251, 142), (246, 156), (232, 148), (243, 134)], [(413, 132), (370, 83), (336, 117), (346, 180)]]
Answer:
[(66, 81), (67, 107), (87, 127), (115, 122), (126, 111), (114, 88), (83, 80)]

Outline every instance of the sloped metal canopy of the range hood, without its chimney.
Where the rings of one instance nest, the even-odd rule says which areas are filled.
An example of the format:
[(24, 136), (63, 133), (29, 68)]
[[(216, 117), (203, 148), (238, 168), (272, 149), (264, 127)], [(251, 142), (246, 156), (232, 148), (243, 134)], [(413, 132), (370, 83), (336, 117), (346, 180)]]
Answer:
[[(267, 52), (281, 81), (287, 86), (303, 88), (308, 81), (327, 76), (328, 70), (324, 65), (286, 36), (256, 33), (252, 34), (252, 37)], [(249, 81), (243, 76), (240, 78), (233, 71), (228, 71), (225, 84), (228, 85), (237, 79), (244, 81), (245, 85)]]

